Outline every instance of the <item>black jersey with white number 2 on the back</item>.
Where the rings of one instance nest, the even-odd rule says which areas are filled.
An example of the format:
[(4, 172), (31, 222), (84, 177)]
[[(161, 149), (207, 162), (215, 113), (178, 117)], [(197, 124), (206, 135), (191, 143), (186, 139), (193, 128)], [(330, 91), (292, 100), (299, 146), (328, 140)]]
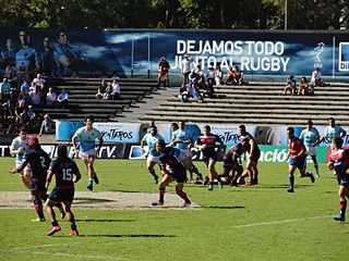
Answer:
[(37, 148), (26, 152), (24, 159), (29, 162), (33, 179), (45, 183), (47, 170), (51, 162), (50, 157), (41, 148)]

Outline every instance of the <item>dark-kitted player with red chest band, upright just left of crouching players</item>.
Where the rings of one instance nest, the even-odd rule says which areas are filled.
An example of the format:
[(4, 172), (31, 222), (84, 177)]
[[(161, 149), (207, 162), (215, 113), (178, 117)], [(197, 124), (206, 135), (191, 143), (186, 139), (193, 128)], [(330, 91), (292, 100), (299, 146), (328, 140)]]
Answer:
[(218, 179), (218, 188), (222, 188), (221, 181), (216, 171), (216, 162), (217, 162), (216, 142), (219, 142), (221, 146), (224, 145), (224, 142), (218, 135), (210, 133), (209, 125), (205, 125), (203, 130), (204, 130), (203, 135), (198, 136), (195, 142), (195, 148), (201, 149), (204, 156), (205, 165), (208, 169), (208, 173), (209, 173), (208, 190), (214, 189), (215, 178)]

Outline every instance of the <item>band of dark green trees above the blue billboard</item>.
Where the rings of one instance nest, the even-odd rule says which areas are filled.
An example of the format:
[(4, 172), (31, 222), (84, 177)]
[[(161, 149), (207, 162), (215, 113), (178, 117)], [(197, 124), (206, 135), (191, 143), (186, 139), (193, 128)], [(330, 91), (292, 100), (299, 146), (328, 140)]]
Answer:
[(0, 26), (93, 28), (348, 28), (349, 0), (11, 0)]

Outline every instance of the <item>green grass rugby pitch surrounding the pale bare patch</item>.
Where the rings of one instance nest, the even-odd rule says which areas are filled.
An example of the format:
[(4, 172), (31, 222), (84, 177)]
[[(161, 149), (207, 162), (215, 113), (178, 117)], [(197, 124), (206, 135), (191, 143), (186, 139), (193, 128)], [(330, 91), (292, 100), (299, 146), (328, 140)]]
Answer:
[[(20, 178), (8, 174), (13, 162), (0, 158), (0, 191), (24, 190)], [(84, 176), (76, 190), (85, 191), (85, 169), (79, 164)], [(156, 192), (144, 164), (98, 160), (96, 191)], [(206, 173), (202, 162), (197, 166)], [(263, 163), (260, 170), (261, 185), (254, 187), (208, 191), (186, 184), (200, 208), (73, 208), (79, 237), (69, 236), (67, 221), (48, 237), (50, 222), (31, 222), (33, 209), (0, 209), (0, 260), (348, 260), (349, 223), (333, 220), (337, 185), (325, 165), (315, 184), (297, 178), (294, 194), (286, 191), (286, 163)], [(167, 190), (173, 192), (173, 186)]]

